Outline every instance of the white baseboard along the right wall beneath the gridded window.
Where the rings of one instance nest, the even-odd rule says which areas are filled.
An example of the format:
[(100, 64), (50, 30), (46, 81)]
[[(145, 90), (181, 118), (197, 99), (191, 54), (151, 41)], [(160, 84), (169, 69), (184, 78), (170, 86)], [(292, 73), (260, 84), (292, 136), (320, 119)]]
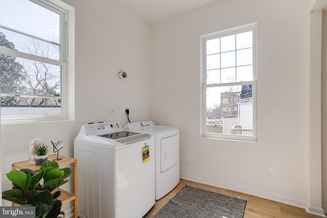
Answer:
[[(304, 201), (299, 201), (299, 200), (291, 199), (291, 198), (284, 197), (284, 196), (272, 195), (270, 193), (265, 193), (265, 192), (252, 190), (252, 189), (246, 189), (246, 188), (242, 188), (242, 187), (238, 187), (238, 186), (229, 185), (229, 184), (226, 184), (226, 183), (220, 183), (220, 182), (217, 182), (217, 181), (206, 180), (206, 179), (203, 179), (203, 178), (194, 177), (194, 176), (190, 176), (190, 175), (186, 175), (186, 174), (180, 174), (180, 178), (190, 180), (190, 181), (194, 181), (194, 182), (203, 183), (203, 184), (206, 184), (206, 185), (212, 185), (212, 186), (216, 186), (216, 187), (220, 187), (220, 188), (225, 188), (225, 189), (229, 189), (229, 190), (233, 190), (233, 191), (238, 191), (238, 192), (241, 192), (241, 193), (245, 193), (245, 194), (248, 194), (248, 195), (252, 195), (252, 196), (256, 196), (256, 197), (260, 197), (260, 198), (264, 198), (264, 199), (268, 199), (268, 200), (272, 200), (272, 201), (281, 202), (283, 204), (288, 204), (288, 205), (292, 205), (292, 206), (295, 206), (295, 207), (306, 209), (306, 211), (308, 213), (312, 213), (312, 214), (315, 214), (315, 215), (326, 217), (325, 214), (323, 213), (322, 208), (320, 208), (320, 210), (319, 210), (319, 208), (308, 207), (308, 203), (304, 202)], [(324, 210), (326, 211), (326, 208), (324, 208)]]

